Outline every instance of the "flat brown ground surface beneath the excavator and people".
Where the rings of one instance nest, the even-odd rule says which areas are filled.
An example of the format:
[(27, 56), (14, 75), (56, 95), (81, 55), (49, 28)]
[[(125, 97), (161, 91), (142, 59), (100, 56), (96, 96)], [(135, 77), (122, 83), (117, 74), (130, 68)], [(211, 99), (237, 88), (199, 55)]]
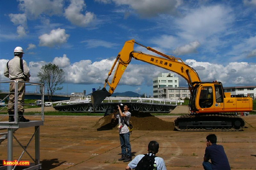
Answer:
[[(159, 116), (172, 123), (177, 116)], [(39, 116), (26, 116), (39, 120)], [(45, 116), (40, 127), (40, 160), (44, 170), (84, 170), (84, 169), (125, 169), (127, 163), (117, 161), (121, 157), (118, 130), (97, 131), (95, 123), (101, 116)], [(246, 128), (241, 132), (179, 132), (139, 131), (131, 134), (133, 158), (147, 152), (150, 140), (159, 142), (157, 156), (165, 160), (167, 170), (202, 170), (206, 147), (206, 136), (217, 135), (218, 144), (225, 148), (232, 170), (256, 169), (256, 116), (243, 117)], [(15, 137), (26, 145), (34, 132), (34, 127), (20, 128)], [(34, 140), (29, 153), (34, 155)], [(14, 160), (22, 153), (22, 148), (14, 140)], [(7, 159), (7, 140), (0, 144), (0, 159)], [(22, 161), (31, 161), (25, 153)]]

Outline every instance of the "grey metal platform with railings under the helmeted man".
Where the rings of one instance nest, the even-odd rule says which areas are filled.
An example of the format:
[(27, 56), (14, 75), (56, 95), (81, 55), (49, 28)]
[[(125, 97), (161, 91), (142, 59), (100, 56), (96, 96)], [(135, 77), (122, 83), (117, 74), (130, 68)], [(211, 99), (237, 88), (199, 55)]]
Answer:
[[(14, 121), (9, 122), (8, 120), (1, 121), (3, 119), (0, 119), (0, 130), (7, 130), (7, 132), (0, 133), (0, 144), (5, 139), (7, 140), (7, 159), (3, 159), (3, 162), (7, 160), (8, 164), (3, 164), (3, 166), (0, 166), (0, 170), (15, 170), (16, 168), (22, 169), (22, 170), (39, 170), (42, 169), (42, 164), (40, 163), (40, 126), (44, 125), (44, 92), (42, 92), (42, 105), (41, 105), (41, 120), (30, 120), (29, 122), (19, 122), (18, 121), (18, 83), (25, 83), (25, 85), (39, 85), (41, 89), (44, 89), (44, 84), (39, 83), (32, 83), (32, 82), (24, 82), (24, 81), (8, 81), (8, 82), (15, 82), (15, 101), (14, 101)], [(0, 83), (8, 83), (8, 82), (0, 82)], [(44, 90), (43, 90), (44, 91)], [(10, 94), (9, 94), (10, 95)], [(9, 96), (8, 95), (8, 96)], [(7, 96), (7, 97), (8, 97)], [(7, 98), (5, 97), (5, 98)], [(1, 115), (5, 117), (6, 115)], [(34, 132), (31, 134), (31, 138), (25, 145), (22, 145), (22, 143), (19, 141), (15, 134), (18, 134), (18, 132), (22, 132), (23, 128), (28, 127), (34, 127)], [(20, 131), (17, 131), (19, 130)], [(14, 139), (19, 144), (19, 146), (22, 148), (22, 153), (20, 154), (19, 158), (13, 158), (13, 148), (14, 148)], [(29, 153), (28, 148), (30, 147), (31, 142), (34, 139), (34, 157)], [(31, 150), (30, 150), (31, 151)], [(31, 160), (33, 161), (26, 161), (29, 162), (29, 165), (21, 165), (19, 162), (24, 162), (22, 160), (22, 157), (24, 154), (29, 155)], [(17, 153), (15, 153), (17, 155)]]

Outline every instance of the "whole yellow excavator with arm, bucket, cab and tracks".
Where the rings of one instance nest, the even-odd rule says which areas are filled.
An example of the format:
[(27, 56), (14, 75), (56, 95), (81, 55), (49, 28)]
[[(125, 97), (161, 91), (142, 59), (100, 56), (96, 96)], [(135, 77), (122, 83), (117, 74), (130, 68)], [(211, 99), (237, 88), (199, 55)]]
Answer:
[[(143, 46), (161, 57), (134, 51), (135, 44)], [(187, 80), (191, 92), (189, 100), (191, 113), (174, 120), (176, 130), (240, 131), (245, 127), (245, 121), (235, 113), (252, 111), (251, 97), (231, 97), (231, 93), (224, 93), (221, 82), (201, 82), (196, 71), (185, 64), (181, 58), (163, 54), (135, 40), (125, 42), (109, 71), (104, 88), (92, 93), (93, 105), (100, 104), (106, 97), (113, 94), (132, 58), (172, 71)], [(110, 83), (108, 79), (114, 67), (116, 70)], [(107, 84), (109, 85), (108, 91), (106, 90)]]

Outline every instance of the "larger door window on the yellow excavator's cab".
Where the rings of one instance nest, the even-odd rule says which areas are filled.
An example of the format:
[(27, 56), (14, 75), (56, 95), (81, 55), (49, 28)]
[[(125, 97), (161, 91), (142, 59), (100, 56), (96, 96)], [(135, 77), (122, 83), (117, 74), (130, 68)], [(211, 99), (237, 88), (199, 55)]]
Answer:
[(213, 104), (212, 87), (202, 87), (199, 96), (199, 106), (201, 108), (209, 108)]

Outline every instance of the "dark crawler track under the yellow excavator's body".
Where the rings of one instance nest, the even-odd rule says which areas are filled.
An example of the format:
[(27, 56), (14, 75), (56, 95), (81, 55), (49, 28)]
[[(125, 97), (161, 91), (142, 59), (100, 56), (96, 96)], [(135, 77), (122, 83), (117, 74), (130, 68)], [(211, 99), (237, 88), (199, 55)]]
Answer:
[(229, 113), (195, 113), (174, 120), (178, 131), (242, 131), (245, 121)]

